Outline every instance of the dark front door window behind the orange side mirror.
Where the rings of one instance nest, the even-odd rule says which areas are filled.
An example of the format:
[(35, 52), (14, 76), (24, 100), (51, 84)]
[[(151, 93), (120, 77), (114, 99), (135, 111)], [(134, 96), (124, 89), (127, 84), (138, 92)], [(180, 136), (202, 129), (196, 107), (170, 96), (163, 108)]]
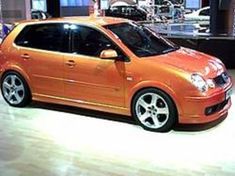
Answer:
[(103, 50), (114, 49), (120, 57), (124, 57), (117, 46), (113, 45), (112, 41), (98, 30), (78, 25), (73, 25), (71, 30), (73, 53), (99, 57)]

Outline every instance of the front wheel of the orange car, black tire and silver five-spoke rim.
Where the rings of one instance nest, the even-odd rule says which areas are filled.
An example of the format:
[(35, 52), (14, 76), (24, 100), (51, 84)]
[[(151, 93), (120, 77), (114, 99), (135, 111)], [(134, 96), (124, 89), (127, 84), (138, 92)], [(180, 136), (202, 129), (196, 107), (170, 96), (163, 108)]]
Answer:
[[(148, 97), (149, 96), (149, 97)], [(152, 108), (152, 97), (156, 96), (156, 108)], [(150, 100), (151, 97), (151, 100)], [(149, 99), (149, 100), (148, 100)], [(142, 105), (140, 105), (140, 101), (145, 101), (144, 105), (148, 105), (148, 108), (143, 108)], [(150, 104), (148, 104), (148, 101), (151, 101)], [(138, 104), (137, 104), (138, 103)], [(142, 104), (142, 103), (141, 103)], [(161, 107), (160, 107), (161, 105)], [(159, 106), (159, 107), (157, 107)], [(161, 114), (159, 108), (164, 108), (165, 114)], [(159, 111), (158, 111), (159, 110)], [(168, 110), (168, 111), (167, 111)], [(138, 111), (138, 112), (137, 112)], [(148, 111), (148, 112), (147, 112)], [(151, 111), (151, 112), (150, 112)], [(132, 116), (135, 118), (136, 122), (143, 127), (145, 130), (148, 131), (154, 131), (154, 132), (168, 132), (170, 131), (173, 126), (176, 124), (178, 119), (178, 112), (175, 103), (171, 99), (171, 97), (163, 92), (162, 90), (156, 89), (156, 88), (146, 88), (136, 93), (132, 100), (131, 105), (131, 112)], [(140, 120), (140, 116), (143, 117), (143, 114), (148, 113), (150, 117), (147, 117), (145, 120)], [(155, 113), (155, 114), (154, 114)], [(137, 115), (138, 114), (138, 115)], [(142, 114), (142, 115), (141, 115)], [(159, 127), (156, 126), (155, 120), (157, 119), (157, 122), (159, 122)], [(162, 121), (162, 122), (161, 122)], [(152, 125), (152, 126), (151, 126)], [(154, 127), (153, 127), (154, 126)]]

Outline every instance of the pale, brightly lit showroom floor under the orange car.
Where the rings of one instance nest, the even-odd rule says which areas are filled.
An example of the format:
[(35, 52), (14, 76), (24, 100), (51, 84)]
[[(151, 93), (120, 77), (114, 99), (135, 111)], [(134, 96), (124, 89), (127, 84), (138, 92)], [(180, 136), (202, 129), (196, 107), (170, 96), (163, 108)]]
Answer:
[(0, 107), (0, 176), (235, 175), (235, 105), (215, 127), (164, 134), (72, 107)]

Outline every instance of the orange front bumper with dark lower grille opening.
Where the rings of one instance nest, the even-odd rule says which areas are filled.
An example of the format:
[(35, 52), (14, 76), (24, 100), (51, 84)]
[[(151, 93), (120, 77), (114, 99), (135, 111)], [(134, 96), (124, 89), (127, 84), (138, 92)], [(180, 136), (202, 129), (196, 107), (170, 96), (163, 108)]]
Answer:
[[(226, 92), (232, 89), (232, 83), (215, 94), (204, 97), (186, 97), (183, 113), (179, 115), (181, 124), (202, 124), (215, 121), (228, 113), (232, 105), (231, 97), (226, 99)], [(208, 108), (212, 112), (208, 113)]]

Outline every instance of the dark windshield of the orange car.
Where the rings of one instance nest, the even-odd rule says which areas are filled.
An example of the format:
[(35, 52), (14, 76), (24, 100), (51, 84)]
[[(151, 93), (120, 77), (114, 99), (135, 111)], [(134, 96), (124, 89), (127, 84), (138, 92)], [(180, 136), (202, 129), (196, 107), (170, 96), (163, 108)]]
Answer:
[(105, 28), (116, 34), (138, 57), (165, 54), (179, 48), (151, 29), (135, 23), (119, 23)]

